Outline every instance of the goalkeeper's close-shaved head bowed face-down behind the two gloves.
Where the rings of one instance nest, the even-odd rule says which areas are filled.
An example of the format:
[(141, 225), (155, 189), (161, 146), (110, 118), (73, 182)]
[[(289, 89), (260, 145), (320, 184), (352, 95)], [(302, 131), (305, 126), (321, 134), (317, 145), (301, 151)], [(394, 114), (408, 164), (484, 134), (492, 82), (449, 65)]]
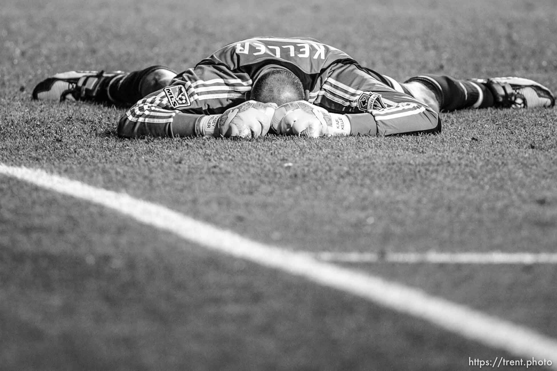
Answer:
[(262, 103), (285, 103), (304, 100), (304, 86), (294, 73), (282, 68), (270, 68), (257, 78), (250, 99)]

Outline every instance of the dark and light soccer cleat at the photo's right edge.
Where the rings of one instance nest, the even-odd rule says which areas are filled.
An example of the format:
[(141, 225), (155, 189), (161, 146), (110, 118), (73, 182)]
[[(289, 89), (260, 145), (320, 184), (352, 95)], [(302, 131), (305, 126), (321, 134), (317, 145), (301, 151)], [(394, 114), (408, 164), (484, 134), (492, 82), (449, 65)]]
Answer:
[(555, 96), (545, 86), (521, 77), (494, 77), (481, 82), (493, 93), (495, 107), (553, 107)]

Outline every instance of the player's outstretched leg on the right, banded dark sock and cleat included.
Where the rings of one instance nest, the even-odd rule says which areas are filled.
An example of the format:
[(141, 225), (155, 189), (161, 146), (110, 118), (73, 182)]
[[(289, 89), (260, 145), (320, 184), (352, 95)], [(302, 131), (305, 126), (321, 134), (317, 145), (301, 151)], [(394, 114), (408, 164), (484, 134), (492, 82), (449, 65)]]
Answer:
[(548, 88), (519, 77), (459, 80), (445, 75), (419, 75), (400, 85), (420, 101), (434, 98), (439, 111), (468, 107), (534, 108), (555, 105), (555, 97)]

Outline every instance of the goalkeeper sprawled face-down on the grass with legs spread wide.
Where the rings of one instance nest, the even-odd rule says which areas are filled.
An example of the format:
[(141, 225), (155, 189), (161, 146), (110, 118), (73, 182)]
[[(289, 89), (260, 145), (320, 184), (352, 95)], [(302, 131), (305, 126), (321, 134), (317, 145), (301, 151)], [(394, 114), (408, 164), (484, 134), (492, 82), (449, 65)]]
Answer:
[(438, 133), (440, 111), (555, 105), (548, 88), (525, 78), (399, 83), (315, 39), (276, 37), (228, 44), (178, 75), (163, 66), (58, 73), (33, 98), (133, 105), (118, 123), (127, 138)]

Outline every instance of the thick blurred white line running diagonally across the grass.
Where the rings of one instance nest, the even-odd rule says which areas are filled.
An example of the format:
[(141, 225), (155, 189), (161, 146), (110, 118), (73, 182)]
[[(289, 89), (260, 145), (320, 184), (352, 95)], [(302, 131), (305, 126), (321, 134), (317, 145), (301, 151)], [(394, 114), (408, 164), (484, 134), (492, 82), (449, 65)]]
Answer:
[(194, 220), (167, 207), (47, 174), (42, 170), (0, 164), (0, 174), (16, 177), (62, 194), (103, 205), (146, 225), (172, 232), (184, 240), (236, 258), (304, 277), (345, 291), (375, 304), (429, 321), (488, 347), (526, 358), (549, 359), (557, 369), (557, 340), (526, 327), (484, 314), (465, 305), (428, 295), (424, 291), (380, 277), (317, 261), (296, 253), (243, 238), (231, 231)]

